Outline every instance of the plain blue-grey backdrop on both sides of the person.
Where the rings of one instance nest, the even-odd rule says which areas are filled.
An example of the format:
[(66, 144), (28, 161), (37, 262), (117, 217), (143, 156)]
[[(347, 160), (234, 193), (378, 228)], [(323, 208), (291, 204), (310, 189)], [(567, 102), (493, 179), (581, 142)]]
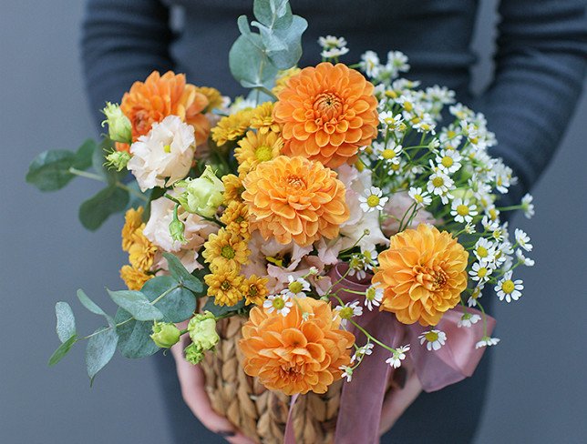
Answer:
[[(3, 2), (0, 15), (0, 441), (167, 443), (152, 362), (115, 358), (94, 389), (82, 347), (58, 368), (46, 368), (57, 347), (56, 300), (71, 302), (88, 331), (98, 327), (98, 319), (79, 309), (75, 291), (85, 288), (113, 311), (104, 287), (120, 288), (118, 268), (125, 262), (120, 217), (95, 234), (77, 222), (78, 204), (99, 184), (77, 179), (52, 195), (24, 181), (38, 152), (74, 148), (94, 131), (78, 61), (82, 4)], [(477, 88), (489, 78), (494, 6), (483, 3)], [(496, 304), (493, 313), (502, 342), (490, 350), (493, 372), (479, 444), (584, 442), (587, 434), (586, 118), (583, 96), (558, 155), (534, 189), (537, 217), (512, 221), (534, 238), (537, 266), (520, 273), (526, 285), (520, 302)]]

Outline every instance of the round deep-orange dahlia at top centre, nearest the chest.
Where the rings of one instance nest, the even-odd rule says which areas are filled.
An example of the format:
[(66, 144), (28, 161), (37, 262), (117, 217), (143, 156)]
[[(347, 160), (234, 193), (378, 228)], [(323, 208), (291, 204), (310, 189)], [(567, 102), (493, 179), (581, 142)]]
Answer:
[(273, 108), (282, 124), (283, 153), (325, 166), (355, 162), (360, 146), (377, 135), (374, 86), (343, 64), (321, 63), (293, 76)]

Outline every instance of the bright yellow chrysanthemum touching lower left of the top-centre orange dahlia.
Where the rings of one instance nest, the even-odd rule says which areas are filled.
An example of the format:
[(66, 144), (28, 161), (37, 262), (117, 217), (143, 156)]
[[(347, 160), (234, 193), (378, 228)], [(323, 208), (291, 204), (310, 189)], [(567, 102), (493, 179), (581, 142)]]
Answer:
[(282, 148), (283, 139), (277, 134), (248, 131), (234, 150), (234, 156), (239, 162), (239, 174), (244, 177), (262, 162), (273, 160), (281, 154)]

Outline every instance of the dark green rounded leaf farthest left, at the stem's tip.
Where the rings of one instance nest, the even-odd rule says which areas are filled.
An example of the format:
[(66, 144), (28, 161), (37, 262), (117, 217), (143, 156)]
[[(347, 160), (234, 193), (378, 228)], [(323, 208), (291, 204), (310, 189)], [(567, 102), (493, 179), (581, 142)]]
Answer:
[(66, 149), (44, 151), (28, 167), (26, 182), (41, 191), (56, 191), (65, 187), (75, 176), (69, 172), (76, 155)]

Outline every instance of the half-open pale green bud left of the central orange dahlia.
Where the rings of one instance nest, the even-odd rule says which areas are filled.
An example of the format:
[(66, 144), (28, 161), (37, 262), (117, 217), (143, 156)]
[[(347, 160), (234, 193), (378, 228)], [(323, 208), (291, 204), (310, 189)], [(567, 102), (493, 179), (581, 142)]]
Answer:
[(186, 179), (177, 184), (177, 187), (185, 188), (185, 191), (177, 197), (183, 207), (189, 213), (196, 213), (203, 217), (212, 217), (221, 206), (224, 197), (224, 184), (216, 177), (211, 166), (197, 179)]

